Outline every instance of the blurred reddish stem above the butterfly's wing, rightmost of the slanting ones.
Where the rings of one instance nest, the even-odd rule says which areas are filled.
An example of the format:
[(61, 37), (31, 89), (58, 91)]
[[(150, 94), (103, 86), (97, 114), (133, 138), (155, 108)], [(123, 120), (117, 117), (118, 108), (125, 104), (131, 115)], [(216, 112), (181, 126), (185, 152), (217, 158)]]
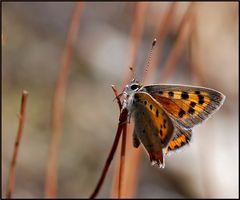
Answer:
[(185, 41), (189, 35), (189, 27), (187, 25), (189, 25), (188, 22), (191, 19), (193, 5), (194, 5), (194, 3), (190, 3), (186, 13), (184, 14), (184, 16), (181, 20), (181, 23), (180, 23), (178, 31), (177, 31), (178, 32), (177, 40), (176, 40), (172, 50), (170, 51), (169, 57), (168, 57), (165, 65), (163, 67), (163, 70), (161, 72), (160, 80), (162, 82), (166, 82), (175, 70), (177, 60), (178, 60), (179, 56), (181, 55)]

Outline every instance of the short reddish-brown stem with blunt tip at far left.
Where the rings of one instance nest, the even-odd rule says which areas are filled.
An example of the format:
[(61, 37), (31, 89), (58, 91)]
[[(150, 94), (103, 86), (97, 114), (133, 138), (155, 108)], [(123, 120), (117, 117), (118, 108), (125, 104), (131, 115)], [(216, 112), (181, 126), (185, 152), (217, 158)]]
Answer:
[(23, 91), (22, 92), (21, 109), (20, 109), (20, 114), (19, 114), (19, 125), (18, 125), (17, 137), (15, 140), (13, 157), (12, 157), (12, 161), (11, 161), (9, 178), (8, 178), (8, 186), (7, 186), (7, 194), (6, 194), (6, 197), (8, 199), (10, 199), (12, 197), (13, 188), (14, 188), (15, 168), (16, 168), (16, 161), (17, 161), (19, 145), (21, 142), (22, 134), (23, 134), (27, 97), (28, 97), (28, 92)]

